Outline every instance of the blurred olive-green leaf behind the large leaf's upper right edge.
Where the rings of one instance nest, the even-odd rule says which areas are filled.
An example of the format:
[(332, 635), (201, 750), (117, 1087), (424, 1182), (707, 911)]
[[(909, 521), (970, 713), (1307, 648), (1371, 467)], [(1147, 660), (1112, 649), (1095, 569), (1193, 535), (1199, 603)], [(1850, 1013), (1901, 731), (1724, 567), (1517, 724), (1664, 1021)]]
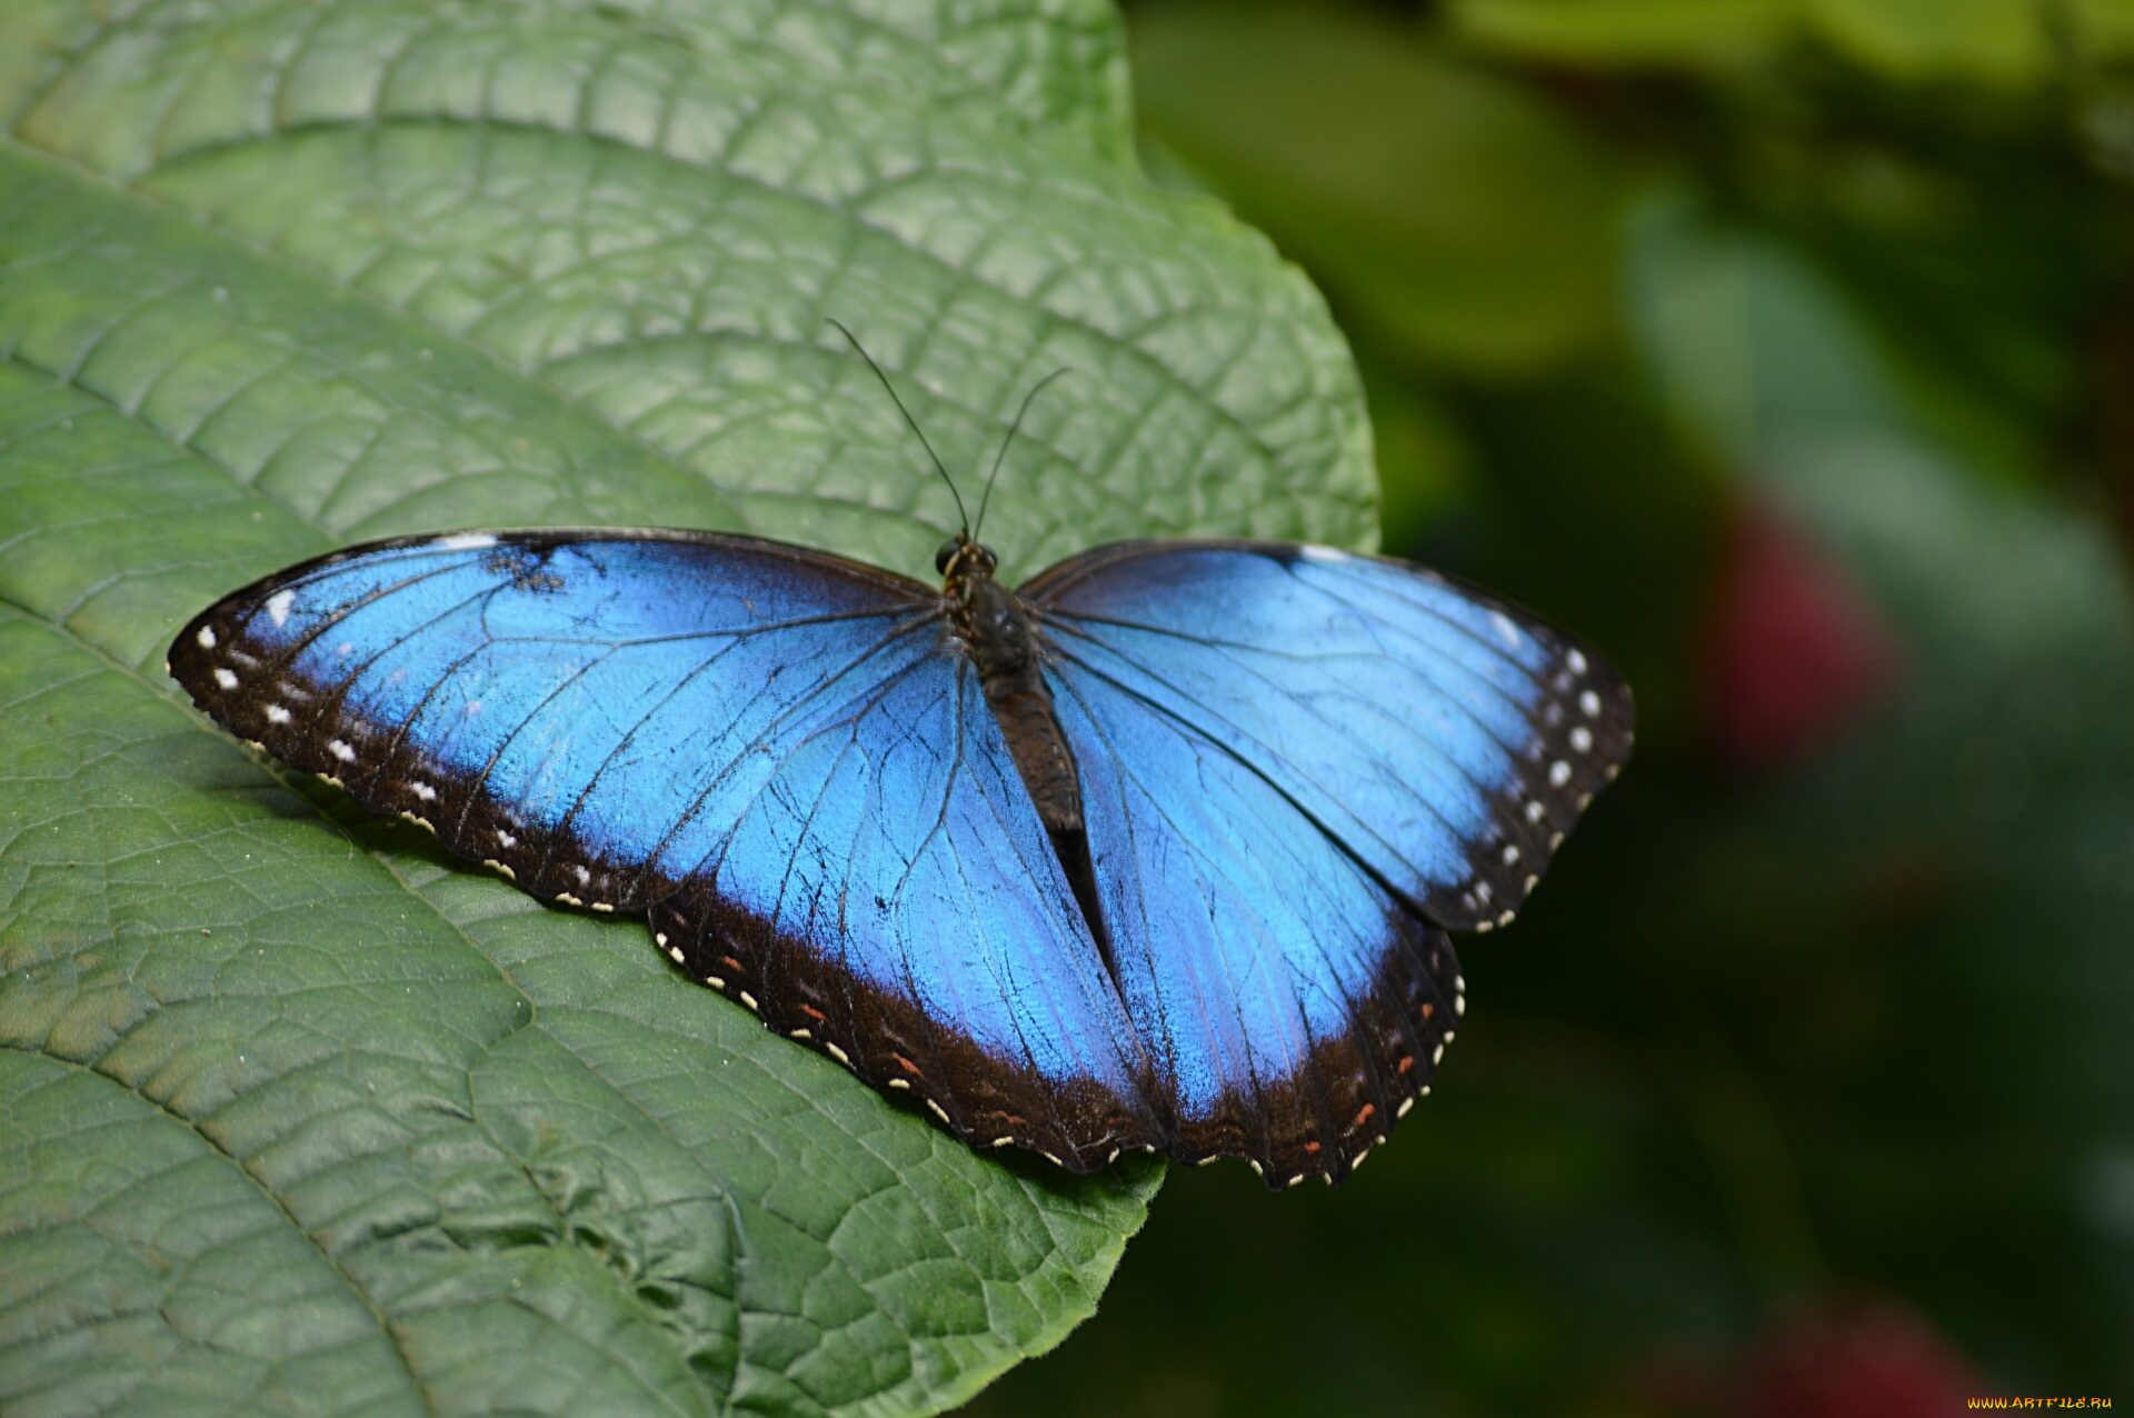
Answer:
[(1340, 11), (1135, 21), (1142, 122), (1411, 360), (1526, 375), (1609, 328), (1622, 188), (1515, 83)]

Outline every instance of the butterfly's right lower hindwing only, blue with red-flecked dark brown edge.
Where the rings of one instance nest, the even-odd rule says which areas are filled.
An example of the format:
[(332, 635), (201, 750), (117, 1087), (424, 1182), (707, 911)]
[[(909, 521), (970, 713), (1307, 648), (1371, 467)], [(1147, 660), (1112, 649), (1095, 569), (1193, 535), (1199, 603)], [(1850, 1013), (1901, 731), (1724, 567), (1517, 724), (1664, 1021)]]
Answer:
[(1054, 680), (1169, 1151), (1347, 1177), (1451, 1038), (1451, 942), (1189, 723), (1071, 661)]

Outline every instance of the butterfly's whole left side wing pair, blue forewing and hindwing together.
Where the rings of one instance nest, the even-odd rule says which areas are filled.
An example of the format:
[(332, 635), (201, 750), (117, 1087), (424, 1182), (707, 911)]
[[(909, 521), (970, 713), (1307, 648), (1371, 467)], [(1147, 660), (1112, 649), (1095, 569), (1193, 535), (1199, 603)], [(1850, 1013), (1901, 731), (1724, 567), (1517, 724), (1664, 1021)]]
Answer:
[(937, 593), (708, 533), (384, 542), (192, 621), (224, 727), (1080, 1169), (1159, 1141), (1118, 998)]

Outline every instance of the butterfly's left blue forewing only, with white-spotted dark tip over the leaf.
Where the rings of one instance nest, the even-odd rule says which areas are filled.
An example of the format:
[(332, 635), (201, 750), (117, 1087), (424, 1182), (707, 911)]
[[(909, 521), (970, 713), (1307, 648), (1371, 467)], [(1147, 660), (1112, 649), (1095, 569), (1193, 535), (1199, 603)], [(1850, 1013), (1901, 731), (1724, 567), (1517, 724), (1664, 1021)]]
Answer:
[(245, 586), (177, 635), (171, 674), (534, 896), (632, 911), (762, 776), (758, 738), (926, 652), (937, 616), (924, 586), (747, 537), (459, 533)]

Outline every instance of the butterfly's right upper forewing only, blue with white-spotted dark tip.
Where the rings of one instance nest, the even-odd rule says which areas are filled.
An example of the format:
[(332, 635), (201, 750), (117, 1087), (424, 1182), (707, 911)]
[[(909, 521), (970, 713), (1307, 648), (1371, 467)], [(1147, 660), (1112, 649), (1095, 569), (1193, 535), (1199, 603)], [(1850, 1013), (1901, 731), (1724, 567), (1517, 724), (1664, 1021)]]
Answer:
[(1436, 571), (1287, 542), (1122, 542), (1022, 589), (1054, 648), (1193, 723), (1449, 930), (1511, 921), (1630, 755), (1592, 648)]

